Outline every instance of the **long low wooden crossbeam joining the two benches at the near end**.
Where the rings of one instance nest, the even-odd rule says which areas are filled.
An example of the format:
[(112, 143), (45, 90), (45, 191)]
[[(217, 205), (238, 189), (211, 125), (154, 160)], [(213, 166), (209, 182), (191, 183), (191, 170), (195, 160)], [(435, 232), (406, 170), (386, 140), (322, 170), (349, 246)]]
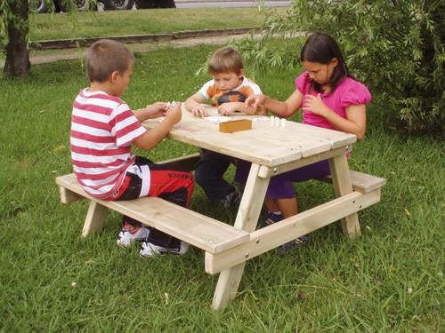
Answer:
[(250, 234), (249, 242), (218, 254), (206, 253), (206, 273), (217, 274), (224, 272), (228, 267), (244, 263), (264, 252), (292, 241), (296, 237), (301, 237), (303, 234), (309, 234), (323, 226), (328, 226), (344, 217), (345, 214), (363, 210), (379, 201), (379, 188), (367, 194), (352, 192), (330, 202), (323, 203), (318, 207), (305, 210), (279, 223), (256, 230)]

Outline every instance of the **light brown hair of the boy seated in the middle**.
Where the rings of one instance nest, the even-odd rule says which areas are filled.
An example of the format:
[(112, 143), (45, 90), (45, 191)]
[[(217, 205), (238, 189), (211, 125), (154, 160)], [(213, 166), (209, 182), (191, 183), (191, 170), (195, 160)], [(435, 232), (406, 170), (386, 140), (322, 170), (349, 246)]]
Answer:
[(231, 47), (223, 47), (217, 50), (208, 61), (208, 71), (211, 74), (231, 72), (239, 74), (243, 68), (243, 59), (239, 52)]

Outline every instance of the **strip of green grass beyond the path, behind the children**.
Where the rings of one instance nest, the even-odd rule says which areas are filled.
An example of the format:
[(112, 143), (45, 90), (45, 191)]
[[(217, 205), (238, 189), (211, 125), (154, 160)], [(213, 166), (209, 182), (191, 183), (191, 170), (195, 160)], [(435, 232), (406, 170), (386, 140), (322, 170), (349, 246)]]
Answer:
[[(285, 13), (286, 9), (274, 11)], [(264, 15), (257, 8), (150, 9), (118, 12), (31, 14), (31, 41), (96, 36), (171, 33), (208, 28), (258, 27)]]

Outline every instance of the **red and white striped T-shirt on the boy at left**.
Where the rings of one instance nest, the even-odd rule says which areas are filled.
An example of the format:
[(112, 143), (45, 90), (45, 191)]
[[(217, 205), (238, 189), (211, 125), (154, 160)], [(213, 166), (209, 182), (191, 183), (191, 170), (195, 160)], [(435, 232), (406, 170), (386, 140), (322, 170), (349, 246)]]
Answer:
[(71, 161), (78, 183), (97, 198), (114, 194), (134, 163), (131, 145), (145, 133), (121, 99), (80, 91), (71, 115)]

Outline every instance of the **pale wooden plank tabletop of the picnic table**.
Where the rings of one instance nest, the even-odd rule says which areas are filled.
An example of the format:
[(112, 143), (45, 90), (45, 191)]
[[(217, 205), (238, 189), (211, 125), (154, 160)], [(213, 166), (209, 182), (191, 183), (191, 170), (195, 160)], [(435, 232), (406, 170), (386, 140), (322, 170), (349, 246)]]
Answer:
[[(345, 147), (356, 141), (355, 135), (303, 123), (287, 121), (284, 128), (274, 126), (269, 116), (237, 113), (223, 117), (215, 107), (207, 107), (207, 112), (208, 117), (196, 117), (182, 104), (182, 120), (174, 126), (169, 138), (268, 167)], [(237, 119), (251, 119), (253, 128), (233, 133), (219, 131), (219, 122)], [(150, 129), (160, 121), (162, 118), (150, 119), (142, 124)]]

